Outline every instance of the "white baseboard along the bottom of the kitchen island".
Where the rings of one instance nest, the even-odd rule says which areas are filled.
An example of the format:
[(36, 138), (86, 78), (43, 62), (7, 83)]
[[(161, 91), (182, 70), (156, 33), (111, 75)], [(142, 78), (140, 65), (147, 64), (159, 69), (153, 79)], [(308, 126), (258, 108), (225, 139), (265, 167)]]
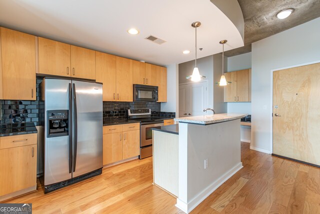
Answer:
[(207, 196), (209, 196), (215, 189), (217, 189), (222, 183), (224, 183), (227, 179), (229, 179), (233, 174), (239, 171), (242, 168), (242, 162), (239, 162), (226, 173), (221, 175), (216, 181), (211, 183), (208, 187), (203, 189), (199, 194), (193, 197), (190, 202), (185, 203), (181, 201), (179, 198), (176, 198), (175, 206), (181, 209), (185, 213), (189, 213), (192, 209), (194, 209), (197, 205), (199, 205)]

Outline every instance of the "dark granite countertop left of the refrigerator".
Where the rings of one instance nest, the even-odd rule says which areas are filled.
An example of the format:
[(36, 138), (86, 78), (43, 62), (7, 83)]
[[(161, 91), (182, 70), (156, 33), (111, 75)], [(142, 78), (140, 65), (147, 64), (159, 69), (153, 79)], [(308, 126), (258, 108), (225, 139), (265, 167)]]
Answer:
[(0, 124), (0, 137), (37, 133), (34, 123)]

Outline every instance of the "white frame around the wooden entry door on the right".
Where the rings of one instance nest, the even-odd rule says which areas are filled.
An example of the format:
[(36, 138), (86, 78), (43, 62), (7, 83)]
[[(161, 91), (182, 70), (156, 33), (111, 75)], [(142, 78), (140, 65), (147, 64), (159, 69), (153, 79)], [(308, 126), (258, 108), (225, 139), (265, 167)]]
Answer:
[(316, 64), (316, 63), (320, 63), (320, 60), (317, 61), (311, 61), (311, 62), (306, 62), (306, 63), (301, 63), (301, 64), (296, 64), (296, 65), (292, 65), (292, 66), (286, 66), (286, 67), (282, 67), (282, 68), (276, 68), (276, 69), (272, 69), (270, 72), (270, 79), (271, 79), (271, 87), (270, 87), (270, 151), (269, 153), (272, 154), (273, 153), (273, 117), (272, 117), (272, 112), (273, 112), (273, 72), (274, 71), (279, 71), (279, 70), (283, 70), (283, 69), (288, 69), (288, 68), (295, 68), (295, 67), (300, 67), (300, 66), (305, 66), (305, 65), (312, 65), (312, 64)]

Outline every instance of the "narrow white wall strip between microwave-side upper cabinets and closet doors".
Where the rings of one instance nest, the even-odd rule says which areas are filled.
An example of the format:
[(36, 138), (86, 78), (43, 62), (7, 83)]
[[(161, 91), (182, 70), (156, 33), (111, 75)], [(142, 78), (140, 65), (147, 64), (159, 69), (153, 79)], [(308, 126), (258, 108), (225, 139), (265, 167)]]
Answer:
[(161, 103), (161, 111), (178, 114), (178, 64), (166, 66), (167, 102)]

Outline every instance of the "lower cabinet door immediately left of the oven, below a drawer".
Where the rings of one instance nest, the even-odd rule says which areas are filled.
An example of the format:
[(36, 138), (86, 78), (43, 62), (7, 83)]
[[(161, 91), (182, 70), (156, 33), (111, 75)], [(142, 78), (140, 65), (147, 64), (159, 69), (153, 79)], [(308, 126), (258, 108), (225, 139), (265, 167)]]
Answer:
[(130, 158), (139, 155), (140, 130), (123, 132), (122, 158)]

